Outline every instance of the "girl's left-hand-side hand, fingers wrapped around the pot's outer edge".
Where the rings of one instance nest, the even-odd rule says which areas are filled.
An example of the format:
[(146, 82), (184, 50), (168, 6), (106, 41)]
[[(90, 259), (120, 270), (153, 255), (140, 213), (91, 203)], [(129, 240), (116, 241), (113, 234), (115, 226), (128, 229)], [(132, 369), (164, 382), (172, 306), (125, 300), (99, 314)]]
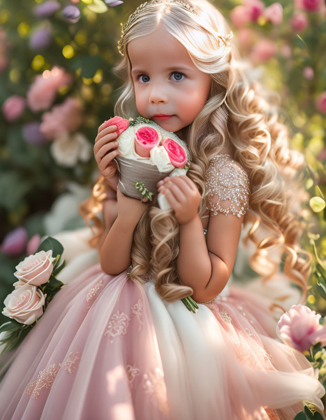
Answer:
[(106, 122), (98, 127), (98, 135), (94, 144), (94, 156), (101, 175), (111, 183), (112, 177), (117, 177), (114, 157), (121, 155), (117, 150), (119, 143), (116, 141), (116, 125), (106, 125)]

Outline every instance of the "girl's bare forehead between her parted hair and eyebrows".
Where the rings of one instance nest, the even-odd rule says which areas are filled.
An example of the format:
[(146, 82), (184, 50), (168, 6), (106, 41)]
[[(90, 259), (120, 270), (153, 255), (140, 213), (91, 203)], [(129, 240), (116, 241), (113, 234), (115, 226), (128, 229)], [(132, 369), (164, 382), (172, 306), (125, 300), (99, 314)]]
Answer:
[(132, 70), (167, 68), (177, 64), (195, 68), (186, 48), (162, 26), (149, 35), (132, 39), (127, 45)]

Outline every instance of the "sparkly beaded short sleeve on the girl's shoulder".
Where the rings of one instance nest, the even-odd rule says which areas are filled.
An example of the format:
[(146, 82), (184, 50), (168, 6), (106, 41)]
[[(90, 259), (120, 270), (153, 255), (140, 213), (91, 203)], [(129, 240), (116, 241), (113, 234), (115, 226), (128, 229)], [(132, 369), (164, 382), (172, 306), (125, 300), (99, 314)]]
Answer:
[(216, 155), (205, 174), (206, 209), (241, 217), (248, 210), (250, 187), (248, 175), (230, 155)]

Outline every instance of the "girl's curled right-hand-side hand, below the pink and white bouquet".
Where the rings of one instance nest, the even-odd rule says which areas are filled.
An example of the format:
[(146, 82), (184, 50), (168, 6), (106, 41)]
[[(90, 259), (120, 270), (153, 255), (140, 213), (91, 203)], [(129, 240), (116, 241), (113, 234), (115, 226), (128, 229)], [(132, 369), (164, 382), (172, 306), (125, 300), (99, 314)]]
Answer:
[(197, 216), (201, 197), (196, 184), (188, 176), (167, 176), (157, 183), (157, 187), (165, 195), (180, 225)]

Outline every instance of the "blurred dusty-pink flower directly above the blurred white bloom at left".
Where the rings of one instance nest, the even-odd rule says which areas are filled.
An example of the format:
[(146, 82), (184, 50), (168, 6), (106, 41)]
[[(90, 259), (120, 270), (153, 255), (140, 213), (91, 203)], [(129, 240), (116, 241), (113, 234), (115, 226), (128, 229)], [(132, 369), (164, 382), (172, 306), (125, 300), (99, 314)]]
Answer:
[(47, 139), (54, 139), (61, 134), (73, 133), (82, 122), (82, 110), (79, 101), (67, 98), (61, 105), (53, 106), (49, 112), (42, 115), (40, 132)]

